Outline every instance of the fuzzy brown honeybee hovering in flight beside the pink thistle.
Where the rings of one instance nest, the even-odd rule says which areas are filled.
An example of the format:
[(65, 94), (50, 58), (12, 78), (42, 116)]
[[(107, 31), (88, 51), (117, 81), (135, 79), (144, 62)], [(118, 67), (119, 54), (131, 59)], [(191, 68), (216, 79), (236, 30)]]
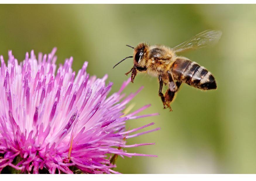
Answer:
[[(211, 72), (186, 57), (176, 55), (176, 53), (212, 46), (219, 41), (221, 34), (222, 32), (218, 30), (206, 30), (173, 48), (163, 45), (149, 45), (148, 43), (140, 43), (135, 48), (126, 45), (134, 49), (133, 56), (124, 58), (116, 65), (127, 58), (133, 58), (134, 65), (126, 73), (127, 76), (131, 72), (132, 83), (138, 72), (157, 76), (159, 81), (158, 95), (161, 97), (164, 109), (169, 108), (172, 111), (170, 104), (181, 83), (186, 83), (202, 90), (217, 88)], [(165, 95), (162, 93), (163, 85), (168, 86)]]

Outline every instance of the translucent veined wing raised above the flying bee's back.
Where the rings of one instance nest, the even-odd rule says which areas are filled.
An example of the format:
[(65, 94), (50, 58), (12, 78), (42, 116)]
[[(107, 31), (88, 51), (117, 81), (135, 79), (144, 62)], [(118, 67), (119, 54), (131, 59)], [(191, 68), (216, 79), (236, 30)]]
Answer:
[(222, 32), (219, 30), (206, 30), (173, 47), (172, 49), (175, 52), (182, 52), (187, 50), (196, 50), (205, 46), (212, 46), (219, 41), (221, 34)]

